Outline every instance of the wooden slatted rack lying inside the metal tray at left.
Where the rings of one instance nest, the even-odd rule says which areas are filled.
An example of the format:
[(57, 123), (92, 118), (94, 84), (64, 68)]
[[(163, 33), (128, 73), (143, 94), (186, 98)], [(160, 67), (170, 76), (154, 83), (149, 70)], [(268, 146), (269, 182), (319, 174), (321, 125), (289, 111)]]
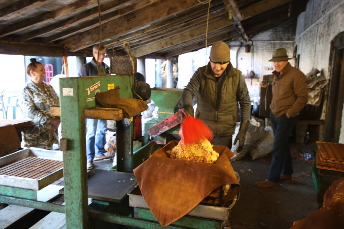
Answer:
[(0, 175), (41, 179), (63, 167), (63, 161), (27, 157), (0, 168)]

